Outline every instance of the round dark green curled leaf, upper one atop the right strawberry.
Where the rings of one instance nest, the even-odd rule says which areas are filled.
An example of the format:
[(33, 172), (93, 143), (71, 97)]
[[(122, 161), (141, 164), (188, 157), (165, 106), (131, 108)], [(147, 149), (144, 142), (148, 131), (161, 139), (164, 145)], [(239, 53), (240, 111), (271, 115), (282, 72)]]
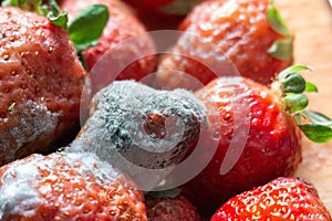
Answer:
[(290, 74), (281, 82), (283, 93), (300, 94), (305, 90), (305, 80), (300, 74)]

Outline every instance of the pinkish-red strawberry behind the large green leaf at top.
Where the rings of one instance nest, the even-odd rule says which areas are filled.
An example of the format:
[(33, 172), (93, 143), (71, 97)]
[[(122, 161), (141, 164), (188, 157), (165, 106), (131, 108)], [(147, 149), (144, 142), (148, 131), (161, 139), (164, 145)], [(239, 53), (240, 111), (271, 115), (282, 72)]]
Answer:
[[(153, 73), (157, 64), (155, 56), (151, 55), (155, 53), (154, 43), (148, 35), (144, 35), (146, 33), (144, 25), (127, 4), (118, 0), (68, 0), (62, 3), (62, 8), (69, 12), (69, 19), (72, 21), (74, 15), (92, 3), (105, 4), (110, 19), (96, 45), (82, 52), (87, 70), (91, 71), (102, 55), (113, 50), (103, 59), (102, 66), (106, 69), (105, 73), (91, 76), (94, 91), (98, 91), (115, 78), (139, 81)], [(133, 40), (135, 36), (139, 38)], [(122, 44), (126, 40), (132, 42)]]

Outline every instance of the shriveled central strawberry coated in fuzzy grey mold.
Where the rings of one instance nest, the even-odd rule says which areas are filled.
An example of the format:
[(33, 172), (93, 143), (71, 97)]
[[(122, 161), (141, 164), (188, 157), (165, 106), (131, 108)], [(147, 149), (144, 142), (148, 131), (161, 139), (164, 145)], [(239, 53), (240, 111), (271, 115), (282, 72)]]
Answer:
[(160, 181), (206, 126), (206, 109), (193, 93), (157, 91), (134, 81), (115, 81), (101, 90), (90, 110), (66, 151), (96, 152), (144, 182), (138, 182), (142, 188)]

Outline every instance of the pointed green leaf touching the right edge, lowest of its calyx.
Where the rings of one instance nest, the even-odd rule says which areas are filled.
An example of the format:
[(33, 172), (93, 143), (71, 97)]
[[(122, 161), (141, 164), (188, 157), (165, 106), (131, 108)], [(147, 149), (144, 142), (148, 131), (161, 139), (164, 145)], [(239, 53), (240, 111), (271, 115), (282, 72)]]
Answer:
[(332, 138), (332, 127), (317, 124), (299, 125), (303, 134), (315, 143), (326, 143)]

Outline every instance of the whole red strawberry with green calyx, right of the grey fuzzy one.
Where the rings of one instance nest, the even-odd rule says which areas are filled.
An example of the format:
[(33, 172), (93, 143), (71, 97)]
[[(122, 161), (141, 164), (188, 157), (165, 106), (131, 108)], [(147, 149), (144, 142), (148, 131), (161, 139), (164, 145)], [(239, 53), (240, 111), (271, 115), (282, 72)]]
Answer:
[(209, 127), (195, 160), (197, 167), (208, 165), (183, 191), (201, 211), (211, 212), (230, 197), (292, 175), (301, 161), (299, 128), (313, 141), (331, 139), (332, 120), (305, 108), (302, 92), (317, 87), (297, 74), (302, 70), (308, 67), (284, 70), (272, 88), (224, 76), (196, 92), (208, 109)]

